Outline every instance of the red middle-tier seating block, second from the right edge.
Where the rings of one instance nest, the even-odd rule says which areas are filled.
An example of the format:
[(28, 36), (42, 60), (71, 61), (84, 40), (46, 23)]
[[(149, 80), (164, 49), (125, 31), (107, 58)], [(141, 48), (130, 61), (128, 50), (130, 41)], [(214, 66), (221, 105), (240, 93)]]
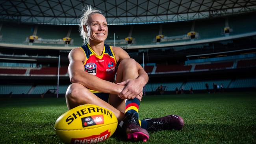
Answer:
[(195, 70), (221, 70), (230, 68), (233, 66), (233, 62), (225, 62), (225, 63), (212, 63), (212, 64), (202, 64), (196, 65)]

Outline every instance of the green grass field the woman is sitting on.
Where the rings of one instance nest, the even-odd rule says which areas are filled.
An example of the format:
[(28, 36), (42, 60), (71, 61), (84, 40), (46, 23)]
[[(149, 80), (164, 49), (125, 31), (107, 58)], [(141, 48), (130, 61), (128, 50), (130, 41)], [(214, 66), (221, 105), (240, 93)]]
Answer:
[[(67, 111), (65, 98), (0, 98), (0, 111), (1, 144), (62, 143), (54, 123)], [(256, 92), (145, 96), (139, 114), (185, 121), (180, 131), (149, 132), (147, 144), (256, 143)], [(132, 142), (114, 135), (102, 143)]]

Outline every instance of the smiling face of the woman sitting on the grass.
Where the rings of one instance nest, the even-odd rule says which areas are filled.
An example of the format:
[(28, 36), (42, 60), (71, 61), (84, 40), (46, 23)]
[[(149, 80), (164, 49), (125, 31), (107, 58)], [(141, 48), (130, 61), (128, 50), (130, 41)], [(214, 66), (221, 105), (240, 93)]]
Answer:
[(108, 23), (106, 18), (99, 13), (90, 15), (85, 32), (88, 33), (89, 41), (105, 41), (108, 37)]

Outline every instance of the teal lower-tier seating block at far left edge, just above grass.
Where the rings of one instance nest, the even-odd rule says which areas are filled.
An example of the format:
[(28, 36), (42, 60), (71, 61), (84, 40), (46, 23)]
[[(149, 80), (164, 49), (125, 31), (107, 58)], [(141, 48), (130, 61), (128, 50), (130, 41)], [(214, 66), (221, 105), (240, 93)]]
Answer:
[(0, 94), (28, 94), (32, 85), (0, 85)]

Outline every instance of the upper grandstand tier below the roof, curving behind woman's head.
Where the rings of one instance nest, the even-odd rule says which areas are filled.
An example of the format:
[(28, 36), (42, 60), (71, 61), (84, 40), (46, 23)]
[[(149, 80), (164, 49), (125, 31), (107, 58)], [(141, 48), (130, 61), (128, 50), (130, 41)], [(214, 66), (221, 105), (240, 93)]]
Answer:
[[(172, 43), (179, 44), (179, 42), (195, 43), (204, 39), (216, 39), (225, 37), (225, 39), (232, 39), (239, 35), (255, 35), (255, 18), (254, 13), (244, 15), (234, 15), (228, 18), (214, 18), (207, 20), (195, 20), (190, 22), (175, 22), (163, 24), (145, 24), (145, 25), (115, 25), (109, 26), (109, 33), (106, 43), (114, 45), (114, 33), (116, 36), (117, 45), (121, 47), (140, 48), (137, 45), (156, 45), (161, 44), (173, 46)], [(230, 33), (225, 35), (224, 28), (226, 25), (230, 27)], [(198, 35), (196, 39), (187, 37), (187, 33), (195, 31)], [(163, 35), (162, 42), (156, 42), (157, 35)], [(65, 46), (62, 39), (70, 37), (72, 44), (69, 46), (77, 47), (82, 45), (82, 39), (79, 34), (78, 26), (54, 26), (54, 25), (35, 25), (35, 24), (9, 24), (2, 23), (0, 30), (0, 44), (26, 44), (30, 35), (37, 35), (39, 39), (48, 41), (35, 42), (33, 45), (43, 46)], [(126, 37), (132, 37), (134, 42), (127, 45)], [(52, 40), (53, 42), (51, 42)], [(221, 40), (221, 39), (220, 39)], [(55, 41), (55, 42), (54, 42)], [(58, 42), (61, 41), (61, 42)], [(198, 43), (198, 42), (197, 42)], [(186, 43), (185, 43), (186, 45)], [(150, 46), (151, 47), (151, 46)], [(161, 46), (162, 47), (162, 46)]]

